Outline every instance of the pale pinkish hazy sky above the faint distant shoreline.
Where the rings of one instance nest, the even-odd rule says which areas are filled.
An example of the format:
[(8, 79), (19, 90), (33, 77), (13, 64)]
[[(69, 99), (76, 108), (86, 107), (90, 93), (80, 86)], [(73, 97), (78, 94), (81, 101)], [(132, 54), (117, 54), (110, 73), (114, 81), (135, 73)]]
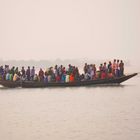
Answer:
[(0, 59), (140, 60), (140, 0), (0, 0)]

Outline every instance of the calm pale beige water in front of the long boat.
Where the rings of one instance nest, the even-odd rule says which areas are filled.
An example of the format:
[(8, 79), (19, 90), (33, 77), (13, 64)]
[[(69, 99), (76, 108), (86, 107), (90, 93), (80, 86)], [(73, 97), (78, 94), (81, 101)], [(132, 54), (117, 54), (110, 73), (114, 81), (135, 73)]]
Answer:
[(0, 140), (139, 140), (140, 77), (121, 86), (0, 89)]

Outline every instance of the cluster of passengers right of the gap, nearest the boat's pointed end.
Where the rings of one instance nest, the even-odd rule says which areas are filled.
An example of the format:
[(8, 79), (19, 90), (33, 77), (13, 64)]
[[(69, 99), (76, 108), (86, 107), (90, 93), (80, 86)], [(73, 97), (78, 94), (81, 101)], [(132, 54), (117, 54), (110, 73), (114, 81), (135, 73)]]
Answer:
[(98, 70), (95, 64), (88, 65), (85, 63), (84, 66), (84, 78), (86, 80), (113, 78), (123, 75), (124, 63), (122, 60), (114, 59), (113, 62), (109, 61), (108, 64), (106, 62), (101, 63)]

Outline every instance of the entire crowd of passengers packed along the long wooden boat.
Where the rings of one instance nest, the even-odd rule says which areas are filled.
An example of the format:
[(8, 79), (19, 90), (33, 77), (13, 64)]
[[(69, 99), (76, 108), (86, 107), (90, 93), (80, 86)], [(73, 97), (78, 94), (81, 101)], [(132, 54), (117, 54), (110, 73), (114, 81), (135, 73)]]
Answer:
[(96, 68), (95, 64), (85, 63), (83, 73), (79, 73), (79, 69), (71, 64), (68, 68), (63, 65), (55, 65), (55, 67), (49, 67), (45, 71), (40, 68), (38, 74), (36, 73), (35, 67), (27, 69), (24, 67), (19, 70), (18, 67), (10, 68), (9, 65), (5, 67), (0, 66), (0, 80), (18, 81), (44, 81), (44, 82), (74, 82), (74, 81), (85, 81), (94, 79), (105, 79), (120, 77), (124, 75), (124, 63), (122, 60), (114, 59), (113, 62), (109, 61), (107, 64), (104, 62), (100, 64), (99, 69)]

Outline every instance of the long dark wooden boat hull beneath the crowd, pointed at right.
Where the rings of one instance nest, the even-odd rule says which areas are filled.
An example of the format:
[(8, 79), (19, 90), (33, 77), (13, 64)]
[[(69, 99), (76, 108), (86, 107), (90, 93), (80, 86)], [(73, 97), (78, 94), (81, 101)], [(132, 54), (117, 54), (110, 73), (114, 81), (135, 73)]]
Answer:
[(61, 82), (36, 82), (36, 81), (0, 81), (0, 85), (4, 87), (23, 87), (23, 88), (41, 88), (41, 87), (72, 87), (72, 86), (89, 86), (89, 85), (103, 85), (103, 84), (120, 84), (134, 76), (138, 73), (133, 73), (129, 75), (124, 75), (121, 77), (115, 78), (106, 78), (106, 79), (96, 79), (96, 80), (88, 80), (88, 81), (78, 81), (78, 82), (69, 82), (69, 83), (61, 83)]

